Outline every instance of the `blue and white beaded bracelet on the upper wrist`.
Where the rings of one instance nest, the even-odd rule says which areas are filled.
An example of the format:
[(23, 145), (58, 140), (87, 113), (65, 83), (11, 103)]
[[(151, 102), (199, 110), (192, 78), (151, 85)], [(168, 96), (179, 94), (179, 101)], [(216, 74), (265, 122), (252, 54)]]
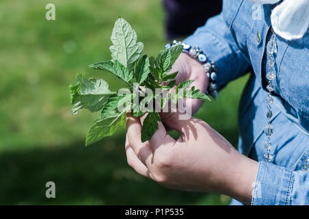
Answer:
[(205, 73), (209, 79), (209, 86), (207, 88), (207, 93), (211, 95), (214, 99), (218, 96), (217, 91), (217, 84), (216, 84), (216, 66), (214, 62), (209, 62), (207, 59), (207, 56), (199, 49), (198, 47), (192, 47), (189, 44), (185, 44), (184, 42), (177, 42), (176, 40), (173, 40), (173, 43), (169, 43), (165, 45), (165, 49), (169, 49), (171, 47), (174, 47), (176, 45), (182, 44), (183, 45), (183, 52), (187, 53), (194, 59), (198, 60), (201, 64), (203, 64)]

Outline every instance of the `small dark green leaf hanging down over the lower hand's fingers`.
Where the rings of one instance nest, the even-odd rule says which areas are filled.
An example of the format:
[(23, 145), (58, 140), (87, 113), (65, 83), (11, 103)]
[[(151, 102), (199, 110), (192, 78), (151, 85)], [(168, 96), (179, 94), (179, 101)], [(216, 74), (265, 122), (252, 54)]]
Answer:
[(141, 128), (141, 142), (146, 142), (153, 136), (159, 127), (159, 121), (161, 121), (161, 118), (157, 112), (148, 113)]

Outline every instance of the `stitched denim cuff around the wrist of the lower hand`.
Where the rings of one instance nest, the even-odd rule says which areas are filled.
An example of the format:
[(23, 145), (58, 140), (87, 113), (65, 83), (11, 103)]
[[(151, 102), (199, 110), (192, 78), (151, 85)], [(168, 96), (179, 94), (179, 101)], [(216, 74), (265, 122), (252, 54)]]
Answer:
[(292, 170), (259, 162), (251, 205), (289, 205), (293, 183)]

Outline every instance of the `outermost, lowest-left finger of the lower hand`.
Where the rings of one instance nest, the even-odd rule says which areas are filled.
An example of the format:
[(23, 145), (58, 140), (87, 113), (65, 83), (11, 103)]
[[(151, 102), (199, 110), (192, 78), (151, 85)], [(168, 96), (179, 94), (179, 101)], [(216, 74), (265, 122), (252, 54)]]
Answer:
[(139, 160), (137, 155), (134, 153), (132, 147), (128, 142), (128, 136), (126, 136), (126, 159), (128, 165), (132, 167), (139, 175), (150, 178), (150, 172), (146, 166)]

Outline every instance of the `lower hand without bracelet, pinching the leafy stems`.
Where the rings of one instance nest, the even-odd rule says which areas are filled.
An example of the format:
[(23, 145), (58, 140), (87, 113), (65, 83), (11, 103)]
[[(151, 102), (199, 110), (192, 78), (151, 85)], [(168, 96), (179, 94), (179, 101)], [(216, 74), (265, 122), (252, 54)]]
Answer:
[(174, 140), (162, 123), (148, 142), (141, 142), (141, 120), (128, 114), (126, 156), (128, 164), (168, 188), (220, 192), (250, 204), (258, 162), (238, 153), (203, 120), (169, 117), (181, 132)]

